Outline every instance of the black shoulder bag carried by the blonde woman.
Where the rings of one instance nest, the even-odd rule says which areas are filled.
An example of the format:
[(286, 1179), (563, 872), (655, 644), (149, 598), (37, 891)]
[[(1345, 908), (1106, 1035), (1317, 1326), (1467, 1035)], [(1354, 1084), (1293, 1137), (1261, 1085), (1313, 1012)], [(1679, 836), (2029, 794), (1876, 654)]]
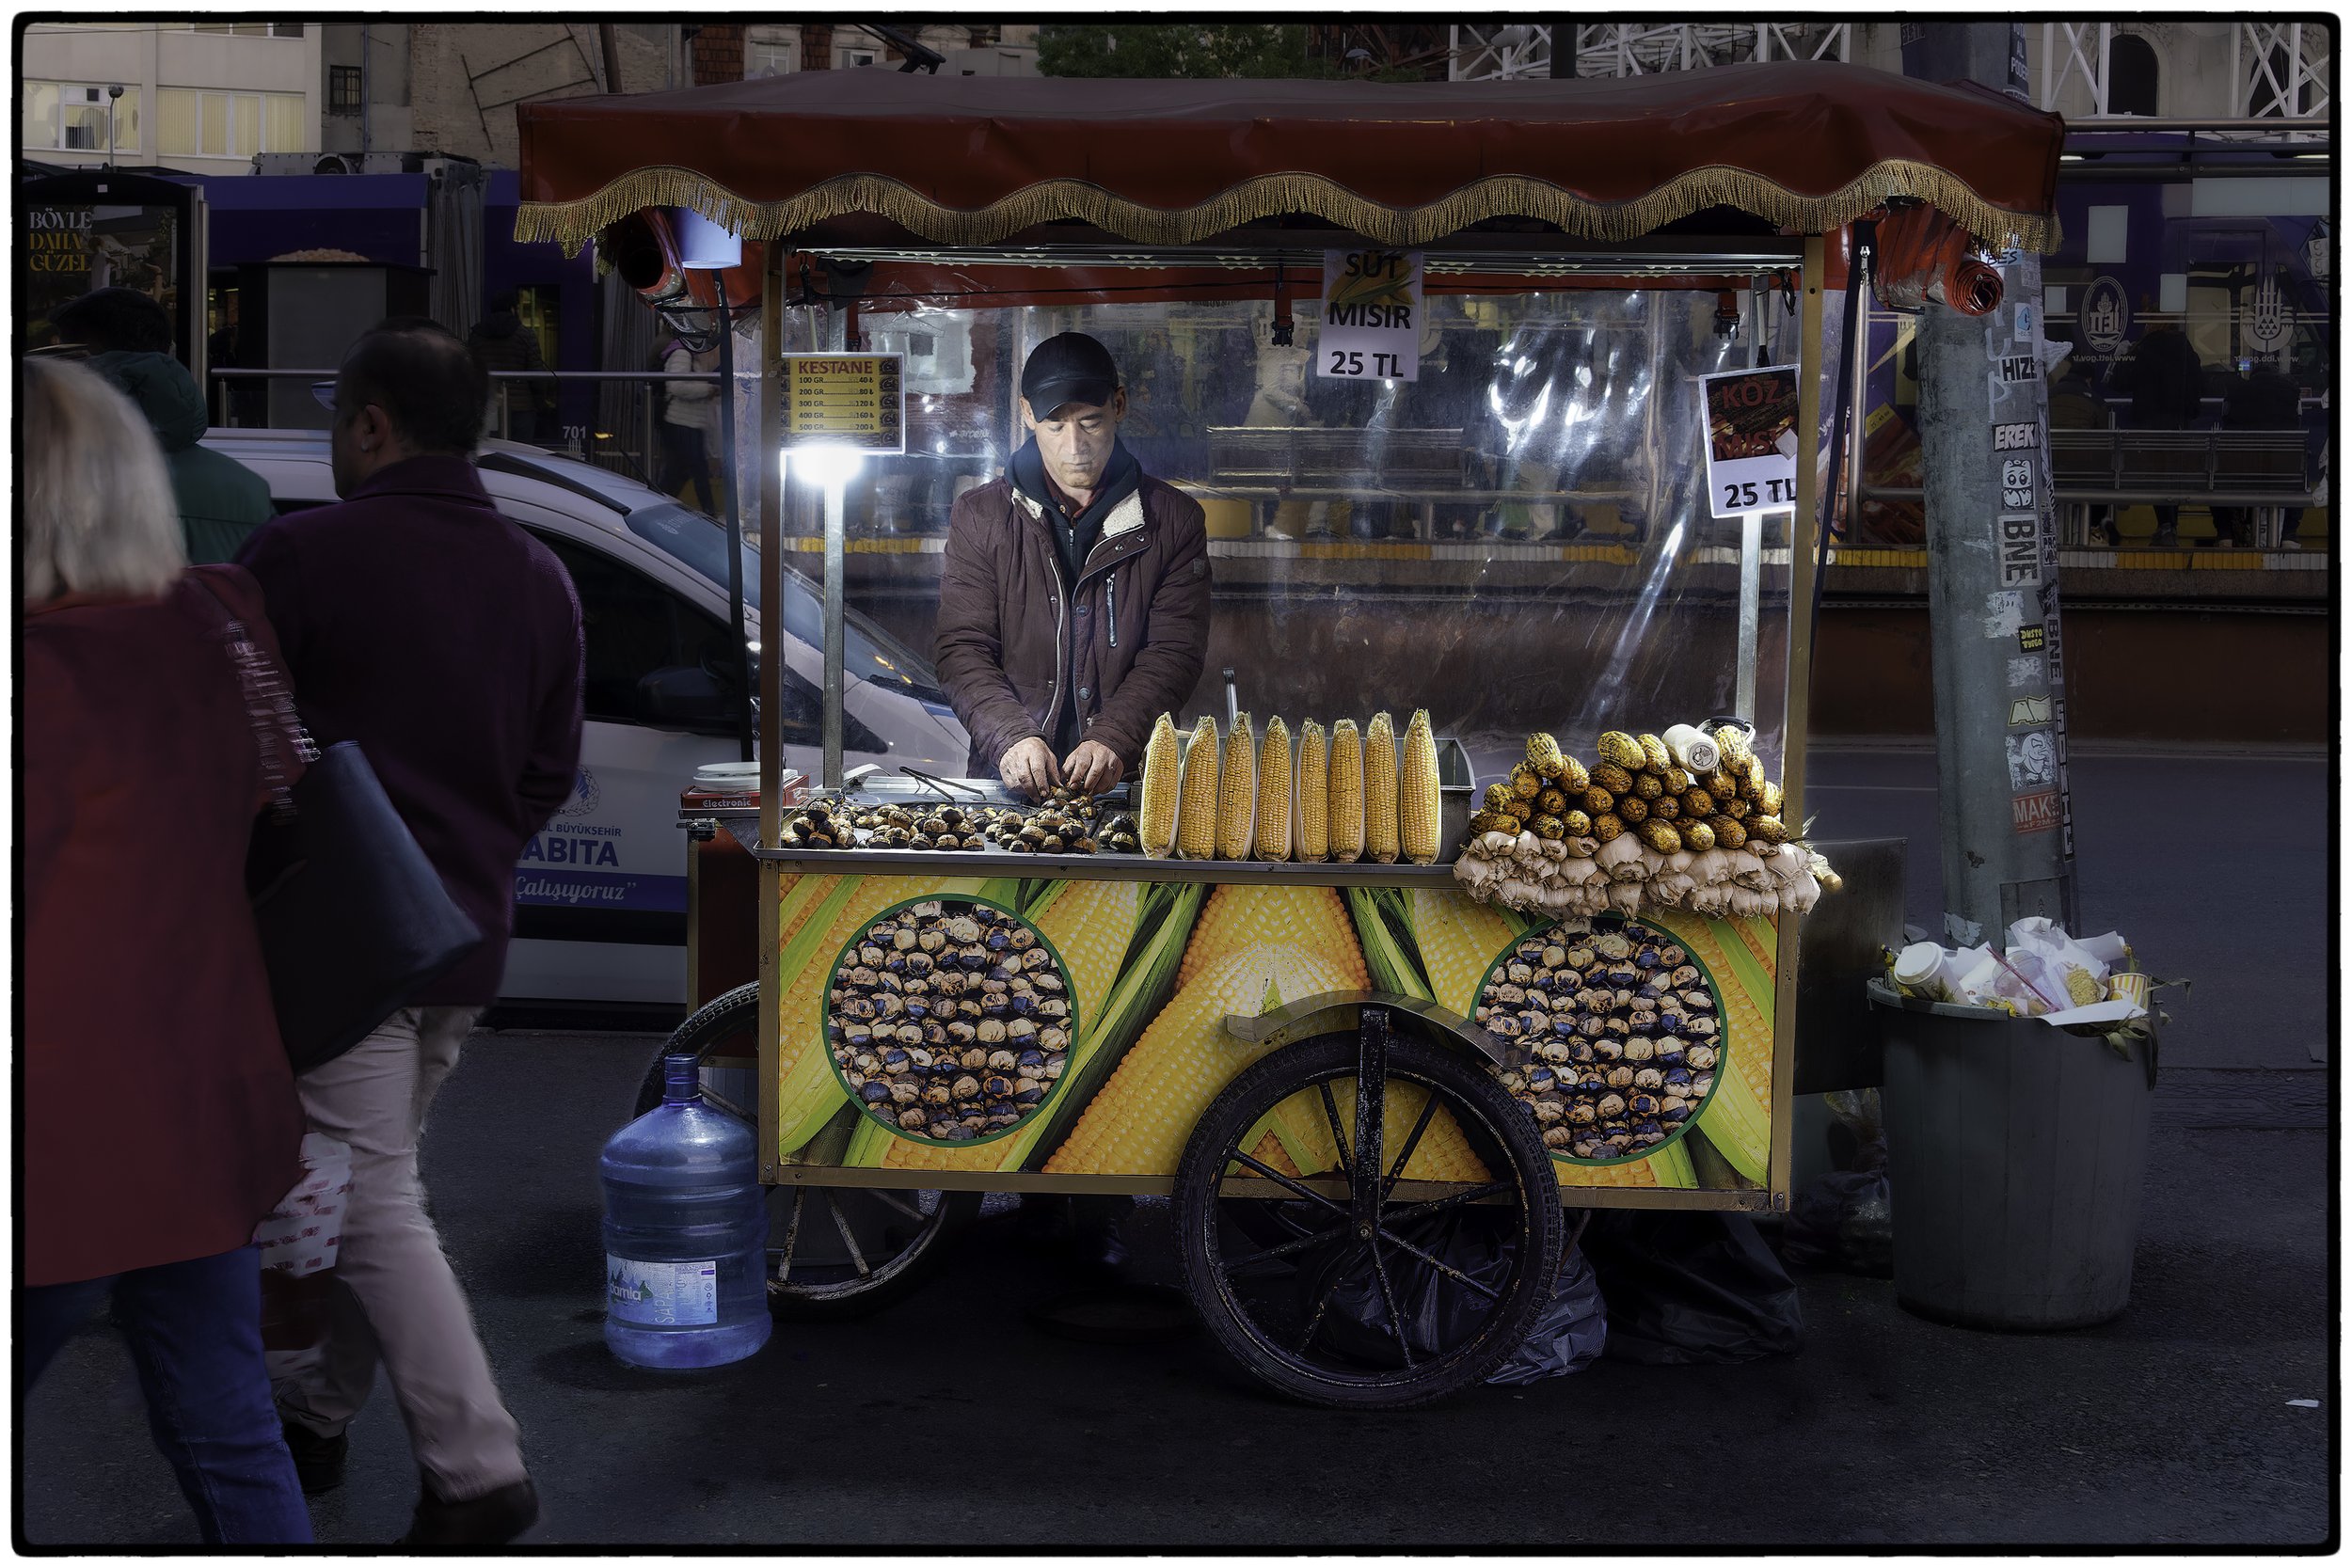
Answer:
[[(216, 602), (221, 595), (205, 583)], [(278, 661), (226, 602), (228, 654), (273, 804), (254, 823), (245, 884), (294, 1072), (332, 1063), (482, 945), (400, 820), (358, 741), (303, 731)], [(285, 755), (306, 769), (287, 785)]]

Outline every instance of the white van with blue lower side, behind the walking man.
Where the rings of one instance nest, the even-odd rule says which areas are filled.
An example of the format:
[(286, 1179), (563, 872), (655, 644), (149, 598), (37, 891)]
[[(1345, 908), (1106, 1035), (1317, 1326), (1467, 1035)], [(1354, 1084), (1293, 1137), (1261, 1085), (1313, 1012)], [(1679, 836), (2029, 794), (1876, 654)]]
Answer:
[[(336, 498), (322, 430), (214, 430), (205, 444), (259, 473), (280, 512)], [(515, 943), (499, 997), (684, 1006), (677, 792), (699, 764), (741, 755), (727, 529), (647, 484), (539, 447), (485, 442), (475, 463), (499, 510), (572, 571), (588, 661), (581, 776), (515, 867)], [(783, 759), (816, 778), (823, 599), (790, 562), (783, 583)], [(760, 562), (748, 548), (743, 597), (757, 630)], [(931, 661), (858, 611), (849, 611), (842, 710), (847, 766), (964, 773), (969, 741)]]

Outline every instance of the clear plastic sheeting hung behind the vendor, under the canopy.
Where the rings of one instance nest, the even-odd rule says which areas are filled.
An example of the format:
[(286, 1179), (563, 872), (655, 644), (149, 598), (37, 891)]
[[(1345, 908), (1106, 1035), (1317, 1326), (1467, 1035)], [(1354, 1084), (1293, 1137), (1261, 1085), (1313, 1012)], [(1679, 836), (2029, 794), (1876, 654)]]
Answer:
[[(1740, 522), (1708, 517), (1698, 376), (1797, 362), (1792, 296), (1494, 287), (1430, 275), (1416, 381), (1317, 376), (1315, 280), (1296, 273), (1289, 343), (1272, 292), (863, 310), (856, 346), (906, 355), (908, 454), (849, 482), (847, 602), (931, 646), (950, 510), (1023, 440), (1021, 362), (1089, 331), (1124, 374), (1122, 440), (1207, 512), (1216, 623), (1178, 724), (1223, 719), (1230, 668), (1240, 708), (1294, 733), (1428, 708), (1479, 780), (1534, 729), (1592, 757), (1604, 729), (1733, 715), (1778, 776), (1790, 512), (1766, 515), (1752, 564), (1755, 712), (1738, 712)], [(847, 310), (793, 308), (781, 348), (847, 348), (849, 331)], [(816, 510), (786, 508), (786, 527), (814, 531)], [(788, 545), (816, 567), (816, 538)]]

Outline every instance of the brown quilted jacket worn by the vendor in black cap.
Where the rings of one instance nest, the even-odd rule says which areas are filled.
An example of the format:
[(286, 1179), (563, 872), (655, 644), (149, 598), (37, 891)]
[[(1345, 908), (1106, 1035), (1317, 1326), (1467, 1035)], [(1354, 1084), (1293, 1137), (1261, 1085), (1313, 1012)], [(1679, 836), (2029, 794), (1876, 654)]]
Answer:
[(1209, 658), (1209, 534), (1200, 503), (1143, 475), (1103, 522), (1063, 604), (1051, 522), (1011, 480), (955, 503), (938, 576), (938, 677), (971, 733), (971, 776), (995, 778), (1016, 743), (1054, 738), (1065, 684), (1089, 741), (1129, 778), (1162, 712), (1178, 712)]

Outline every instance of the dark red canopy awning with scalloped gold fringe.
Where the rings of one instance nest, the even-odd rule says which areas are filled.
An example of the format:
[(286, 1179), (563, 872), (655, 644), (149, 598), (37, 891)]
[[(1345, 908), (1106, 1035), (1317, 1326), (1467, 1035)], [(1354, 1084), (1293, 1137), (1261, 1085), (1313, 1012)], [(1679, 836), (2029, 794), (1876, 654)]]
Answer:
[(1889, 197), (2053, 249), (2065, 129), (1983, 87), (1795, 61), (1402, 85), (804, 71), (517, 115), (515, 237), (567, 249), (644, 207), (753, 240), (887, 219), (988, 244), (1077, 219), (1188, 244), (1308, 214), (1425, 244), (1484, 219), (1630, 240), (1708, 207), (1813, 233)]

